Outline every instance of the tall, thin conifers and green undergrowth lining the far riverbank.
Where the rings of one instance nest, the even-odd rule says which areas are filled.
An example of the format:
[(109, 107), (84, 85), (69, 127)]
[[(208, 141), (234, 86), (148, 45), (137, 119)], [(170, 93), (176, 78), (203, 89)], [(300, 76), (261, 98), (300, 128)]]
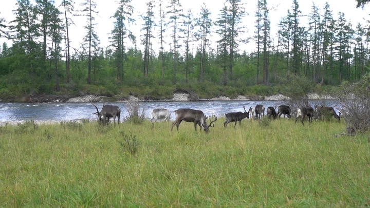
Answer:
[[(334, 18), (328, 3), (324, 8), (313, 4), (304, 17), (293, 0), (278, 33), (271, 34), (267, 0), (255, 3), (250, 17), (255, 27), (246, 28), (242, 21), (246, 5), (240, 0), (225, 0), (224, 7), (214, 11), (215, 20), (207, 5), (183, 11), (179, 0), (148, 0), (146, 12), (135, 20), (131, 0), (120, 0), (112, 13), (110, 45), (102, 46), (95, 28), (96, 2), (63, 0), (55, 5), (51, 0), (17, 0), (15, 19), (0, 19), (0, 35), (13, 42), (0, 49), (0, 94), (53, 93), (86, 84), (112, 89), (272, 85), (287, 73), (337, 85), (356, 82), (369, 71), (367, 25), (352, 25), (342, 12)], [(80, 48), (70, 46), (69, 28), (75, 15), (86, 18)], [(308, 25), (300, 23), (302, 18), (308, 18)], [(142, 24), (141, 34), (128, 27), (135, 21)], [(247, 30), (254, 35), (248, 36)], [(218, 38), (214, 46), (211, 35)], [(248, 41), (256, 43), (251, 53), (240, 50)], [(153, 48), (156, 42), (161, 45), (159, 51)]]

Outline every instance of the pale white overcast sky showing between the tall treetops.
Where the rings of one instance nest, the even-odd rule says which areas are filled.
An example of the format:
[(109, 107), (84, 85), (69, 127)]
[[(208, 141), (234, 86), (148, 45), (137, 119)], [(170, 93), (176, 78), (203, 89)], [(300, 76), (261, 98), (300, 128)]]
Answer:
[[(106, 47), (109, 45), (109, 33), (113, 29), (113, 18), (111, 18), (117, 8), (117, 1), (115, 0), (95, 0), (97, 3), (97, 11), (98, 16), (96, 17), (96, 31), (98, 33), (101, 47)], [(31, 0), (32, 2), (32, 0)], [(61, 0), (55, 0), (55, 5), (60, 5)], [(75, 0), (76, 6), (75, 8), (79, 8), (79, 4), (83, 2), (83, 0)], [(144, 14), (146, 12), (146, 0), (133, 0), (132, 6), (134, 7), (134, 14), (133, 18), (135, 18), (137, 21), (135, 24), (128, 26), (128, 29), (130, 29), (134, 35), (137, 36), (138, 40), (138, 47), (139, 49), (142, 49), (142, 46), (139, 45), (140, 41), (140, 35), (142, 35), (144, 32), (140, 31), (140, 28), (142, 28), (142, 21), (140, 18), (140, 15)], [(167, 4), (169, 0), (163, 0), (164, 4)], [(192, 10), (194, 16), (198, 16), (200, 12), (201, 5), (205, 4), (206, 7), (211, 12), (211, 18), (213, 21), (216, 20), (217, 15), (219, 14), (219, 10), (224, 6), (225, 0), (180, 0), (180, 4), (182, 6), (182, 9), (184, 12), (187, 12), (189, 9)], [(363, 26), (366, 25), (366, 20), (370, 20), (370, 6), (366, 5), (364, 9), (356, 8), (356, 0), (327, 0), (330, 10), (332, 11), (332, 15), (335, 19), (338, 19), (338, 13), (342, 12), (345, 14), (345, 18), (347, 21), (352, 22), (353, 28), (355, 29), (358, 22), (362, 23)], [(243, 18), (243, 25), (246, 26), (246, 30), (248, 31), (245, 35), (246, 36), (252, 36), (254, 35), (255, 31), (255, 17), (254, 13), (256, 11), (256, 4), (257, 0), (242, 0), (242, 3), (244, 3), (244, 7), (246, 9), (246, 12), (248, 15), (246, 15)], [(312, 4), (315, 3), (315, 5), (320, 9), (320, 13), (323, 13), (323, 8), (325, 1), (322, 0), (313, 0), (313, 1), (307, 1), (307, 0), (298, 0), (299, 3), (299, 9), (302, 11), (302, 15), (308, 15), (311, 12)], [(14, 19), (13, 11), (16, 8), (16, 0), (6, 0), (6, 4), (2, 3), (0, 7), (0, 18), (5, 18), (7, 22), (10, 22)], [(276, 37), (276, 33), (278, 31), (278, 24), (282, 17), (287, 15), (288, 9), (291, 10), (293, 6), (293, 0), (284, 0), (284, 1), (278, 1), (278, 0), (267, 0), (268, 7), (270, 8), (269, 12), (269, 18), (270, 18), (270, 27), (271, 27), (271, 36), (272, 38)], [(166, 5), (164, 5), (166, 6)], [(157, 5), (154, 8), (155, 16), (158, 17), (158, 9), (159, 6)], [(72, 17), (73, 21), (76, 25), (70, 27), (70, 40), (71, 40), (71, 46), (74, 48), (79, 48), (79, 45), (82, 42), (82, 38), (85, 35), (84, 26), (86, 25), (86, 17), (81, 16), (75, 16)], [(308, 17), (301, 17), (300, 18), (300, 24), (301, 26), (307, 26), (307, 18)], [(155, 36), (157, 35), (157, 32), (154, 33)], [(218, 39), (216, 34), (213, 34), (210, 38), (211, 40), (211, 47), (215, 48), (215, 41)], [(167, 43), (171, 43), (171, 37), (168, 34), (166, 37)], [(3, 44), (6, 42), (8, 46), (12, 44), (11, 41), (6, 40), (4, 37), (0, 37), (0, 44)], [(130, 44), (130, 43), (128, 43)], [(194, 43), (195, 45), (197, 43)], [(159, 44), (158, 40), (153, 41), (153, 49), (155, 52), (159, 51)], [(194, 47), (195, 48), (195, 47)], [(246, 50), (247, 52), (251, 52), (255, 50), (255, 44), (253, 41), (250, 41), (247, 44), (241, 44), (239, 45), (239, 49)], [(169, 50), (169, 46), (165, 46), (165, 50)], [(194, 50), (194, 49), (193, 49)]]

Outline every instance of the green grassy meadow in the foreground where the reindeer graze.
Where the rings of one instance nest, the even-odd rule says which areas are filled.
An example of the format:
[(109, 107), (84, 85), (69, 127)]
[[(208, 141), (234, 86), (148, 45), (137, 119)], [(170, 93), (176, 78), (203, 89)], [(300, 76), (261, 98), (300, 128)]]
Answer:
[(338, 122), (222, 122), (209, 134), (184, 122), (172, 133), (147, 121), (2, 126), (0, 206), (370, 205), (368, 134), (334, 137)]

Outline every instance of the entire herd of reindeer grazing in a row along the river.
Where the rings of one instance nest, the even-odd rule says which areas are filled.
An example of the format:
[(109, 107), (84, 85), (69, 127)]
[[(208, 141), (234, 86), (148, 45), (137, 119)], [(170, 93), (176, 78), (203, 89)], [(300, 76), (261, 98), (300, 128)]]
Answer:
[[(94, 105), (93, 102), (91, 104)], [(108, 123), (110, 118), (113, 118), (114, 120), (114, 126), (116, 127), (116, 118), (118, 119), (118, 126), (120, 123), (120, 114), (121, 109), (118, 106), (115, 105), (105, 105), (103, 103), (103, 107), (101, 111), (99, 112), (99, 109), (96, 105), (94, 107), (97, 109), (97, 112), (94, 112), (95, 115), (98, 116), (98, 121), (103, 123)], [(265, 116), (265, 106), (263, 105), (256, 105), (254, 108), (251, 106), (248, 111), (246, 110), (245, 106), (243, 106), (244, 112), (228, 112), (225, 114), (225, 122), (224, 127), (227, 127), (228, 123), (235, 122), (234, 128), (236, 127), (236, 123), (239, 122), (239, 126), (241, 125), (241, 122), (243, 119), (251, 118), (251, 119), (261, 119)], [(277, 109), (277, 111), (276, 111)], [(197, 130), (197, 126), (201, 129), (204, 129), (204, 131), (208, 132), (210, 127), (214, 127), (214, 122), (217, 121), (217, 117), (213, 116), (213, 120), (210, 118), (210, 123), (207, 124), (208, 117), (204, 114), (201, 110), (195, 110), (190, 108), (179, 108), (177, 110), (172, 111), (175, 113), (176, 119), (172, 123), (171, 131), (173, 127), (176, 125), (176, 129), (178, 130), (178, 127), (182, 121), (185, 122), (193, 122), (194, 123), (194, 129)], [(170, 121), (171, 114), (168, 109), (165, 108), (155, 108), (152, 110), (152, 119), (151, 122), (154, 120), (156, 122), (158, 119), (164, 119), (165, 121)], [(295, 114), (297, 112), (297, 114)], [(294, 114), (295, 116), (295, 122), (294, 124), (297, 124), (297, 120), (301, 118), (301, 123), (304, 125), (304, 119), (307, 117), (309, 124), (312, 122), (312, 118), (314, 119), (323, 119), (326, 116), (332, 116), (338, 121), (340, 121), (341, 112), (339, 111), (339, 115), (332, 107), (327, 106), (319, 106), (315, 105), (315, 108), (312, 107), (301, 107), (298, 108), (297, 111), (292, 112), (291, 107), (288, 105), (280, 105), (280, 106), (269, 106), (266, 109), (266, 116), (268, 119), (277, 119), (281, 118), (282, 115), (284, 115), (284, 118), (287, 117), (290, 119)], [(213, 124), (213, 125), (212, 125)]]

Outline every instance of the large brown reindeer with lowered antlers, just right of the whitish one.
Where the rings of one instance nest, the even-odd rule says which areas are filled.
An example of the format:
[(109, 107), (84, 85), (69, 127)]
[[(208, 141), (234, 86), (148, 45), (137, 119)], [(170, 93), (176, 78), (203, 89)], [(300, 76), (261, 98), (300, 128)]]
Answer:
[(217, 117), (215, 116), (215, 120), (211, 120), (211, 123), (209, 125), (207, 125), (207, 118), (203, 111), (201, 110), (194, 110), (194, 109), (189, 109), (189, 108), (180, 108), (180, 109), (177, 109), (174, 111), (175, 112), (175, 115), (176, 115), (176, 120), (175, 122), (173, 122), (172, 126), (171, 126), (171, 131), (173, 129), (173, 127), (176, 125), (176, 128), (178, 130), (178, 126), (180, 125), (180, 123), (182, 121), (185, 121), (185, 122), (193, 122), (194, 123), (194, 129), (196, 130), (196, 126), (199, 125), (200, 126), (200, 130), (203, 128), (206, 132), (209, 131), (209, 127), (214, 127), (214, 124), (213, 126), (212, 123), (217, 121)]

